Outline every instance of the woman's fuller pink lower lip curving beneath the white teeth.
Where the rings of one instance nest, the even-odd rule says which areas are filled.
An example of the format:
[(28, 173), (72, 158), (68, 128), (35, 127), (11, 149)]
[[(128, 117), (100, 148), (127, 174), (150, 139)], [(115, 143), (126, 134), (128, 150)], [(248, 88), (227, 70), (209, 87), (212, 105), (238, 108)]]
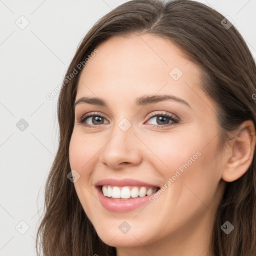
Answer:
[(109, 211), (115, 211), (115, 212), (126, 212), (129, 210), (133, 210), (140, 205), (149, 202), (149, 196), (154, 195), (156, 192), (146, 195), (143, 197), (135, 197), (135, 198), (130, 198), (127, 200), (118, 200), (118, 199), (111, 199), (107, 196), (104, 196), (101, 191), (101, 187), (96, 187), (99, 201), (101, 204)]

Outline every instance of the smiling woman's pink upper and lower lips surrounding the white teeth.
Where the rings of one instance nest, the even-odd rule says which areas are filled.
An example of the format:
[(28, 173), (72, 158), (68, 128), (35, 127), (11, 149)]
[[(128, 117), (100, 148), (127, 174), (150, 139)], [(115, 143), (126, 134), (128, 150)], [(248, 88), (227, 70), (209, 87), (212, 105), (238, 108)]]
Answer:
[(101, 179), (95, 183), (95, 188), (97, 190), (97, 194), (99, 197), (99, 201), (101, 204), (109, 211), (115, 211), (115, 212), (126, 212), (129, 210), (133, 210), (140, 205), (149, 202), (149, 197), (154, 195), (156, 192), (146, 195), (143, 197), (135, 197), (135, 198), (130, 198), (126, 200), (118, 200), (118, 199), (111, 199), (107, 196), (104, 196), (102, 191), (101, 191), (101, 186), (102, 185), (112, 185), (112, 186), (128, 186), (128, 185), (137, 185), (137, 186), (155, 186), (159, 187), (155, 184), (149, 184), (143, 181), (135, 180), (135, 179), (111, 179), (111, 178), (106, 178), (106, 179)]

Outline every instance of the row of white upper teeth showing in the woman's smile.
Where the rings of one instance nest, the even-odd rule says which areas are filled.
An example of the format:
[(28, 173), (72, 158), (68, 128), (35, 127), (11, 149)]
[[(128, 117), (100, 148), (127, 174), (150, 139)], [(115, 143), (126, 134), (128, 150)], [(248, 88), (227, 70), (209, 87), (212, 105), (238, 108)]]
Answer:
[(103, 185), (102, 193), (104, 196), (112, 197), (112, 198), (130, 198), (130, 197), (142, 197), (145, 195), (149, 195), (154, 193), (157, 188), (156, 187), (148, 187), (145, 186), (137, 187), (137, 186), (111, 186), (111, 185)]

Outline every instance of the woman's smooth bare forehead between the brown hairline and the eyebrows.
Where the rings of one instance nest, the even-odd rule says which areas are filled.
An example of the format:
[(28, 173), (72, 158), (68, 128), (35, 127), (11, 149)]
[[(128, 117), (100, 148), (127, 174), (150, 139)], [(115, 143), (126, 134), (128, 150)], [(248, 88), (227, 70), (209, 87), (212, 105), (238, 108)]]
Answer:
[(166, 38), (154, 34), (113, 36), (96, 48), (98, 53), (81, 71), (76, 99), (112, 95), (125, 101), (147, 93), (172, 93), (191, 101), (198, 97), (196, 93), (202, 93), (200, 68)]

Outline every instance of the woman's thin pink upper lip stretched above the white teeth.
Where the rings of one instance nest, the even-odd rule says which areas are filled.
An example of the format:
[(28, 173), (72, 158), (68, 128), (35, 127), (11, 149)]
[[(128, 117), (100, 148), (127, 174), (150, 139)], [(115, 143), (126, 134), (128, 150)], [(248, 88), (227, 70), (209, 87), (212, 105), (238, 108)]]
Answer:
[(155, 186), (159, 187), (156, 184), (147, 183), (141, 180), (137, 179), (131, 179), (131, 178), (123, 178), (123, 179), (114, 179), (114, 178), (104, 178), (98, 180), (95, 184), (95, 186), (101, 186), (101, 185), (112, 185), (112, 186)]

